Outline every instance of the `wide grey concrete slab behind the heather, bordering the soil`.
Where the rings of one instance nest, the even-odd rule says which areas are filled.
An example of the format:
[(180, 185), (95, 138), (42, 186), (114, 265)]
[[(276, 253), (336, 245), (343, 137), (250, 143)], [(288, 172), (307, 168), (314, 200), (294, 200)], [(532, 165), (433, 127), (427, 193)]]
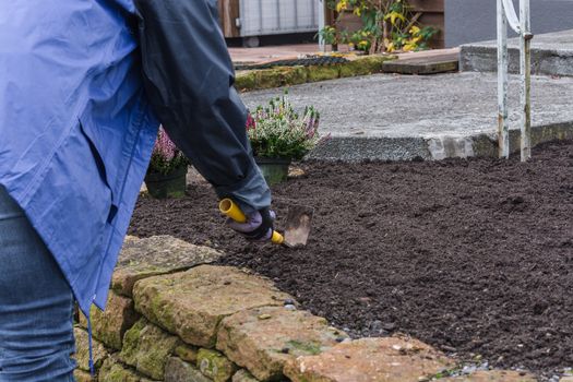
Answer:
[[(510, 128), (518, 128), (518, 84), (511, 77)], [(282, 89), (246, 93), (255, 108)], [(314, 105), (320, 131), (332, 139), (312, 153), (322, 159), (441, 159), (497, 155), (497, 76), (453, 73), (432, 76), (378, 74), (293, 86), (296, 108)], [(573, 139), (573, 79), (533, 79), (534, 141)], [(512, 133), (516, 150), (517, 134)]]

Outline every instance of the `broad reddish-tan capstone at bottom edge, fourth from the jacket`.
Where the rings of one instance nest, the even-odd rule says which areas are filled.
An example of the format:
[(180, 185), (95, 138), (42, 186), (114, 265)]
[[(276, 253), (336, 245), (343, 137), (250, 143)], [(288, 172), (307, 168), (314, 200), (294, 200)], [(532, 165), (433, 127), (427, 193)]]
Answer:
[(420, 381), (454, 362), (417, 339), (362, 338), (318, 356), (298, 357), (285, 367), (294, 382)]

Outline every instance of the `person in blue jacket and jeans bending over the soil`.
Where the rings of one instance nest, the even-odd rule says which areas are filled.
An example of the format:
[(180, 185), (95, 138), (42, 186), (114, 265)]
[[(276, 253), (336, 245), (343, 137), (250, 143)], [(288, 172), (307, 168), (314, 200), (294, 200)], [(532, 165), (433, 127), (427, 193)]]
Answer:
[(72, 305), (105, 308), (159, 122), (272, 231), (216, 0), (0, 2), (0, 381), (73, 381)]

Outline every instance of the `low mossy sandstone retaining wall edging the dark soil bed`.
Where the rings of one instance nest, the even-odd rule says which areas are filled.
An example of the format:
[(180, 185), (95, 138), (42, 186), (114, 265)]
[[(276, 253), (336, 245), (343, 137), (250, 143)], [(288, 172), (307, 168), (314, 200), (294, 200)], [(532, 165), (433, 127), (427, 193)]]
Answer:
[[(168, 237), (128, 237), (107, 310), (92, 311), (96, 380), (190, 382), (430, 381), (456, 362), (419, 341), (350, 341), (271, 280), (215, 266), (220, 252)], [(86, 320), (74, 329), (88, 373)], [(444, 381), (535, 381), (481, 371)]]

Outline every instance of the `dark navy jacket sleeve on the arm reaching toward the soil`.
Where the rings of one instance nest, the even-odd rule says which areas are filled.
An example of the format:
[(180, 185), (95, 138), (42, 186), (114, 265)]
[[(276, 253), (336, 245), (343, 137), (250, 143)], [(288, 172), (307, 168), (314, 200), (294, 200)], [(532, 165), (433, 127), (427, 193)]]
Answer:
[(247, 109), (216, 0), (135, 0), (147, 98), (167, 133), (219, 198), (271, 204), (247, 136)]

